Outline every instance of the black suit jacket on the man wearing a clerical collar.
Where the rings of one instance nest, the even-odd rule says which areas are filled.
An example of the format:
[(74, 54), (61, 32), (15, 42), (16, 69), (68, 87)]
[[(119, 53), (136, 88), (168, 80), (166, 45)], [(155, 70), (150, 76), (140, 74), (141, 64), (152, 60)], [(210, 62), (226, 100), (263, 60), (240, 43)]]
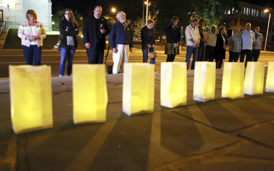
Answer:
[[(106, 30), (105, 34), (102, 34), (102, 38), (103, 38), (103, 44), (104, 44), (104, 48), (106, 48), (106, 35), (109, 33), (109, 27), (108, 27), (108, 22), (106, 20), (106, 18), (104, 17), (100, 17), (100, 22), (102, 24), (102, 28), (104, 28)], [(83, 42), (84, 44), (89, 42), (91, 45), (91, 49), (92, 50), (96, 50), (96, 45), (97, 45), (97, 30), (98, 30), (98, 25), (96, 22), (96, 19), (94, 17), (94, 15), (87, 17), (84, 20), (84, 25), (83, 25)], [(100, 30), (99, 30), (100, 31)]]

